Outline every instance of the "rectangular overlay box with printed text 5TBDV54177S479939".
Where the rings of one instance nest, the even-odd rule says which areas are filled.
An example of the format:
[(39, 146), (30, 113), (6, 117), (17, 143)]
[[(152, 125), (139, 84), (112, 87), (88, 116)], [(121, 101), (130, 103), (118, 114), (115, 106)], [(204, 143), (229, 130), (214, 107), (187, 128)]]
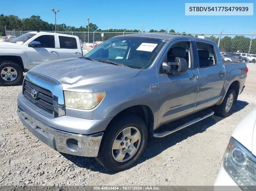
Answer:
[(253, 3), (185, 3), (185, 15), (253, 15)]

